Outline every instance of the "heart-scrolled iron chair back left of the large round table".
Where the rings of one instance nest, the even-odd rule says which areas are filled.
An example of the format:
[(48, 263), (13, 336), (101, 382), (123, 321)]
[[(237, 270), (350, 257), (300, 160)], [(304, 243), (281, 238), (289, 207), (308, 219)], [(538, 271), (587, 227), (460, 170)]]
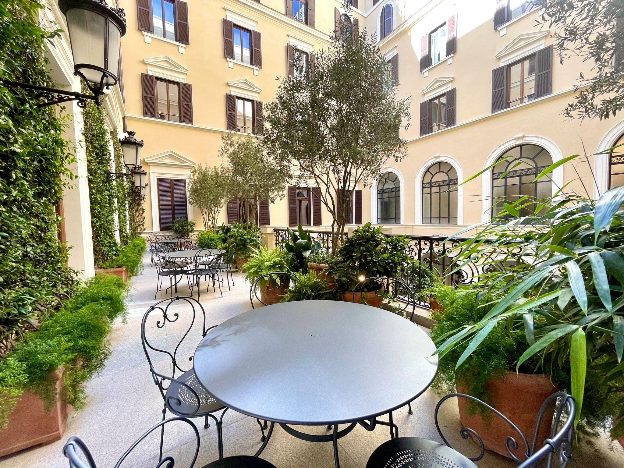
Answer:
[[(167, 324), (176, 324), (178, 326), (177, 334), (167, 334), (165, 331)], [(158, 301), (150, 306), (143, 316), (141, 343), (147, 363), (150, 366), (152, 379), (154, 384), (158, 386), (163, 401), (176, 409), (176, 414), (193, 416), (200, 409), (201, 399), (193, 385), (179, 379), (182, 374), (192, 370), (193, 356), (188, 359), (182, 356), (192, 354), (199, 341), (215, 326), (207, 328), (206, 313), (202, 305), (195, 298), (185, 296)], [(160, 336), (148, 338), (148, 331), (150, 335)], [(197, 340), (192, 340), (195, 335), (200, 336), (196, 337)], [(175, 338), (177, 336), (179, 339)], [(158, 359), (158, 357), (162, 359)], [(168, 372), (157, 371), (155, 364), (161, 361), (168, 361), (172, 364)], [(184, 402), (176, 396), (167, 396), (167, 390), (171, 385), (182, 387), (182, 394), (187, 397)], [(183, 410), (182, 403), (185, 403)]]

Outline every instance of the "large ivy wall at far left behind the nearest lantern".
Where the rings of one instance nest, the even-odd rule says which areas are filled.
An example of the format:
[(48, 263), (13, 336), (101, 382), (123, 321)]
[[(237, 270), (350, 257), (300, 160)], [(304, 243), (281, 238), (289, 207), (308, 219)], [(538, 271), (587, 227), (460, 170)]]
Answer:
[[(39, 26), (36, 0), (0, 2), (0, 78), (54, 86), (44, 56), (51, 36)], [(53, 35), (53, 34), (52, 34)], [(0, 349), (57, 309), (74, 288), (66, 247), (57, 239), (55, 205), (73, 148), (54, 107), (35, 92), (0, 83)]]

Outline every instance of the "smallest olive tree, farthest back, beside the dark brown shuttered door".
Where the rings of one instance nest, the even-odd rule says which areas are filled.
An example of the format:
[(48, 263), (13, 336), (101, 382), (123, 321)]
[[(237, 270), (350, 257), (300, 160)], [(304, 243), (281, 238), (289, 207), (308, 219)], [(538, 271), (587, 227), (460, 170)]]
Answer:
[(219, 213), (227, 202), (228, 187), (229, 174), (224, 167), (203, 167), (198, 164), (192, 168), (188, 202), (202, 213), (204, 229), (217, 229)]

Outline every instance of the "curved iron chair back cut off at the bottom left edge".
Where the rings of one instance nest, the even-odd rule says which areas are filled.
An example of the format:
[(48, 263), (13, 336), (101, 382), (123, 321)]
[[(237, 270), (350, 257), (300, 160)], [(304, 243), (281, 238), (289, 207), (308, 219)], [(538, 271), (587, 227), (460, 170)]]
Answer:
[[(130, 452), (132, 452), (135, 449), (135, 447), (138, 446), (140, 442), (142, 442), (145, 439), (145, 437), (149, 436), (152, 432), (154, 432), (158, 428), (160, 428), (160, 430), (164, 432), (165, 425), (171, 425), (172, 422), (175, 422), (175, 421), (185, 422), (186, 424), (188, 424), (188, 426), (191, 427), (191, 429), (195, 433), (195, 454), (193, 455), (193, 459), (190, 462), (190, 465), (188, 466), (188, 468), (193, 468), (193, 465), (195, 465), (195, 461), (197, 460), (197, 454), (199, 452), (199, 432), (197, 431), (197, 427), (195, 427), (195, 424), (193, 424), (191, 421), (189, 421), (185, 417), (172, 417), (170, 419), (160, 421), (158, 422), (158, 424), (151, 427), (147, 432), (145, 432), (145, 434), (140, 436), (139, 439), (137, 439), (137, 441), (135, 441), (134, 444), (132, 444), (132, 446), (130, 446), (130, 448), (127, 451), (125, 451), (125, 453), (122, 455), (119, 461), (117, 461), (117, 464), (115, 464), (115, 468), (119, 468), (119, 466), (122, 465), (125, 459), (127, 459), (127, 457), (130, 455)], [(178, 432), (175, 432), (175, 434), (176, 436), (178, 436)], [(91, 452), (87, 448), (86, 444), (82, 442), (76, 436), (69, 437), (69, 440), (66, 442), (65, 446), (63, 447), (63, 455), (69, 461), (69, 468), (97, 468), (95, 466), (94, 458), (91, 455)], [(182, 456), (182, 454), (180, 454), (180, 456)], [(161, 467), (161, 466), (172, 467), (174, 466), (174, 464), (176, 467), (178, 466), (178, 464), (175, 463), (176, 460), (174, 459), (173, 456), (167, 456), (163, 459), (162, 452), (160, 452), (160, 456), (158, 457), (158, 459), (159, 459), (159, 462), (157, 464), (157, 467)], [(258, 465), (258, 467), (260, 466), (263, 466), (263, 465)]]

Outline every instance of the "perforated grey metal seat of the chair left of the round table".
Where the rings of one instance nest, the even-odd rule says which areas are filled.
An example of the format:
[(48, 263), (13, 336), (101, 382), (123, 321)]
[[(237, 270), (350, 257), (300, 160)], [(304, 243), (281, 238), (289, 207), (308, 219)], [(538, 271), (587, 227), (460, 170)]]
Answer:
[[(215, 400), (215, 397), (213, 397), (206, 391), (205, 388), (202, 387), (202, 384), (200, 384), (197, 380), (193, 369), (183, 373), (181, 376), (177, 377), (176, 380), (187, 384), (197, 393), (197, 396), (200, 399), (200, 407), (197, 410), (197, 413), (195, 413), (195, 416), (200, 416), (208, 412), (219, 411), (220, 409), (225, 408), (223, 404)], [(197, 398), (195, 398), (195, 395), (193, 395), (187, 387), (177, 383), (176, 381), (172, 381), (170, 384), (167, 389), (167, 393), (165, 394), (165, 398), (167, 399), (168, 408), (174, 414), (180, 414), (182, 416), (188, 415), (195, 411), (195, 408), (197, 408)], [(178, 401), (180, 402), (179, 406), (177, 404)]]

